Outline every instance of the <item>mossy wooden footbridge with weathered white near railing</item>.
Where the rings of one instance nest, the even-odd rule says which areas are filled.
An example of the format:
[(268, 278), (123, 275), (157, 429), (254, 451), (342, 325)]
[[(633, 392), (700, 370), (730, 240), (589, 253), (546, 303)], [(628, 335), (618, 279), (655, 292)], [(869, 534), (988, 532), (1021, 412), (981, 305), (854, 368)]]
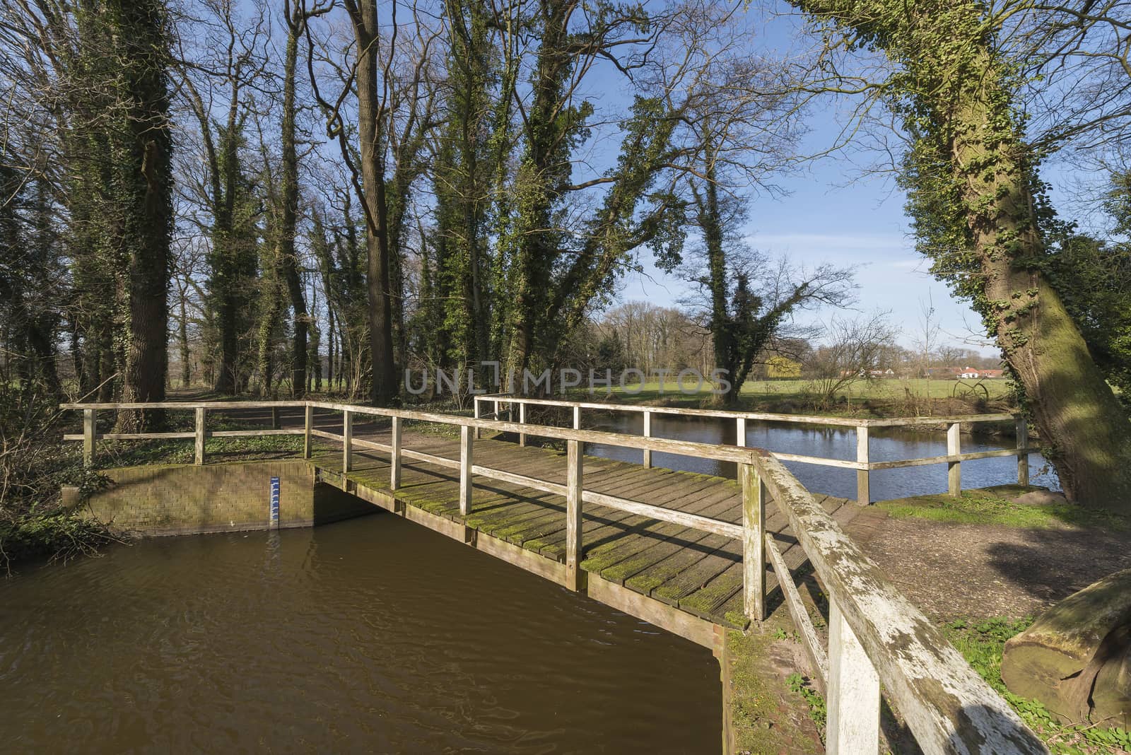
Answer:
[[(584, 429), (577, 402), (537, 401), (571, 410), (573, 427), (535, 425), (525, 422), (535, 400), (484, 400), (494, 402), (490, 418), (478, 402), (475, 417), (329, 401), (63, 408), (84, 413), (83, 434), (67, 437), (84, 442), (88, 463), (98, 437), (191, 439), (204, 463), (209, 435), (301, 434), (321, 479), (709, 648), (725, 627), (762, 621), (768, 599), (783, 600), (828, 697), (829, 752), (878, 752), (881, 683), (926, 753), (1046, 752), (844, 533), (856, 503), (810, 494), (766, 450), (650, 437), (647, 419), (642, 436)], [(499, 418), (513, 407), (520, 422)], [(195, 428), (96, 433), (100, 410), (157, 408), (192, 411)], [(209, 411), (288, 409), (300, 411), (294, 426), (207, 429)], [(528, 445), (528, 436), (566, 450)], [(585, 443), (637, 449), (641, 463), (586, 457)], [(653, 468), (653, 452), (734, 462), (739, 479)], [(829, 599), (827, 633), (795, 582), (806, 563)]]

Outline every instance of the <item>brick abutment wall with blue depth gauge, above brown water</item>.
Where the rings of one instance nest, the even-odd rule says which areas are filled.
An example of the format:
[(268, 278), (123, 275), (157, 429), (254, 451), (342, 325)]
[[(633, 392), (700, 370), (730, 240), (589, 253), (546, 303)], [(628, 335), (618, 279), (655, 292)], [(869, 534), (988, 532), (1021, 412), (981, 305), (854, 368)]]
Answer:
[(270, 528), (270, 479), (279, 478), (279, 527), (311, 527), (377, 511), (370, 503), (314, 481), (305, 461), (124, 467), (104, 474), (113, 484), (79, 502), (64, 502), (138, 535), (188, 535)]

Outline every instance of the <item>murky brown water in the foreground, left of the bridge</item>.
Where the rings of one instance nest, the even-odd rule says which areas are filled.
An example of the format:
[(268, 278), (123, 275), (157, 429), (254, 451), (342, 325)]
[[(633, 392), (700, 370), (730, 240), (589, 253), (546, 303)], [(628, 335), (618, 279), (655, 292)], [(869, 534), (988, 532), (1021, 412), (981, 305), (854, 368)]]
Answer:
[(709, 753), (710, 652), (392, 515), (0, 582), (6, 753)]

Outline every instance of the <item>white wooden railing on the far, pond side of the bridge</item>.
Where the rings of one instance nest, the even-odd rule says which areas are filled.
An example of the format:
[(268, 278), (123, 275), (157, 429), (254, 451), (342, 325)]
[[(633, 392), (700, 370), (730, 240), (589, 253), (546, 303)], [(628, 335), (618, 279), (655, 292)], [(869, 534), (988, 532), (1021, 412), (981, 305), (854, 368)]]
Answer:
[[(853, 427), (856, 431), (856, 459), (829, 459), (826, 457), (811, 457), (800, 453), (786, 453), (772, 451), (774, 455), (782, 461), (796, 461), (801, 463), (818, 465), (821, 467), (839, 467), (841, 469), (856, 470), (856, 501), (867, 504), (872, 498), (871, 472), (879, 469), (901, 469), (904, 467), (922, 467), (926, 465), (947, 465), (947, 491), (950, 495), (961, 493), (961, 465), (964, 461), (975, 459), (991, 459), (995, 457), (1017, 457), (1017, 481), (1019, 485), (1029, 484), (1029, 454), (1036, 453), (1038, 449), (1028, 444), (1028, 425), (1025, 418), (1016, 414), (986, 414), (986, 415), (953, 415), (947, 417), (889, 417), (878, 419), (852, 419), (844, 417), (820, 417), (814, 415), (792, 415), (792, 414), (767, 414), (759, 411), (727, 411), (723, 409), (683, 409), (679, 407), (653, 407), (633, 403), (607, 403), (599, 401), (570, 401), (566, 399), (536, 399), (512, 393), (487, 393), (474, 397), (475, 416), (483, 416), (480, 411), (480, 403), (491, 401), (494, 403), (494, 416), (499, 415), (501, 405), (518, 405), (519, 423), (526, 424), (527, 406), (549, 406), (572, 409), (573, 427), (580, 427), (580, 413), (582, 409), (596, 409), (601, 411), (627, 411), (642, 415), (645, 437), (651, 437), (653, 415), (675, 415), (685, 417), (709, 417), (715, 419), (731, 419), (735, 423), (735, 437), (737, 445), (746, 444), (748, 422), (777, 422), (798, 425), (832, 425), (838, 427)], [(960, 427), (964, 424), (979, 423), (1015, 423), (1017, 432), (1016, 449), (996, 449), (993, 451), (974, 451), (962, 453)], [(892, 461), (873, 461), (870, 454), (870, 429), (872, 427), (935, 427), (944, 425), (947, 427), (947, 453), (944, 455), (897, 459)], [(543, 425), (539, 425), (539, 427)], [(520, 434), (520, 443), (525, 445), (527, 433)], [(651, 451), (645, 449), (644, 466), (651, 467)]]

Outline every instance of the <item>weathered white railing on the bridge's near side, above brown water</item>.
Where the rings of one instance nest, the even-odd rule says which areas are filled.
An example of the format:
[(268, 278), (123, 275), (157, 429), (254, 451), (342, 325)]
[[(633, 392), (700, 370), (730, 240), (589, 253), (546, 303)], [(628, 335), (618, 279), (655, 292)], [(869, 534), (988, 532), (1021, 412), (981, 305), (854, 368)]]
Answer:
[[(504, 400), (504, 399), (499, 399)], [(519, 406), (523, 406), (519, 403)], [(249, 429), (207, 432), (208, 411), (259, 408), (302, 408), (304, 423), (294, 429)], [(881, 685), (899, 711), (924, 753), (985, 753), (1012, 755), (1046, 753), (1047, 749), (1020, 720), (1009, 704), (965, 661), (961, 654), (891, 582), (855, 543), (852, 541), (812, 495), (782, 465), (776, 454), (739, 445), (715, 445), (670, 439), (627, 435), (553, 427), (529, 423), (502, 422), (408, 409), (385, 409), (330, 401), (166, 401), (162, 403), (66, 403), (63, 409), (81, 410), (84, 432), (66, 435), (81, 440), (84, 458), (94, 461), (97, 440), (193, 439), (196, 463), (205, 461), (207, 436), (254, 436), (302, 434), (303, 455), (312, 454), (312, 437), (342, 442), (345, 478), (353, 465), (354, 448), (390, 454), (389, 488), (400, 485), (404, 459), (458, 470), (459, 510), (472, 510), (475, 476), (512, 483), (566, 497), (567, 578), (566, 585), (584, 585), (581, 512), (594, 504), (672, 522), (696, 530), (723, 535), (742, 544), (743, 592), (746, 615), (756, 622), (765, 618), (766, 566), (772, 565), (798, 634), (809, 654), (814, 678), (827, 695), (827, 747), (830, 753), (877, 753), (880, 746)], [(195, 429), (180, 433), (96, 432), (96, 413), (118, 409), (184, 410), (195, 414)], [(314, 427), (314, 410), (342, 414), (342, 433)], [(575, 407), (578, 423), (581, 407)], [(391, 420), (389, 443), (354, 437), (356, 416), (387, 417)], [(448, 459), (405, 448), (405, 420), (437, 423), (459, 427), (459, 459)], [(879, 420), (884, 422), (884, 420)], [(566, 441), (567, 483), (553, 483), (474, 463), (474, 440), (480, 431), (504, 433), (532, 432), (538, 436)], [(700, 517), (655, 506), (641, 501), (585, 489), (584, 443), (601, 443), (645, 452), (731, 461), (739, 465), (742, 481), (742, 523)], [(766, 503), (771, 498), (788, 518), (789, 524), (829, 598), (829, 636), (822, 641), (815, 631), (801, 596), (771, 532), (766, 530)]]

